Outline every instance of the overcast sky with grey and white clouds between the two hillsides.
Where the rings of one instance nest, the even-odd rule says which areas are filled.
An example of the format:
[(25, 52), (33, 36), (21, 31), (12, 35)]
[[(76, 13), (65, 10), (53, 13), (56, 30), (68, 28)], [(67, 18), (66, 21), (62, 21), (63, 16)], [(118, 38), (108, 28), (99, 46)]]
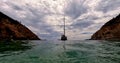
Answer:
[(68, 39), (89, 39), (120, 13), (120, 0), (0, 0), (0, 11), (41, 39), (60, 39), (66, 16)]

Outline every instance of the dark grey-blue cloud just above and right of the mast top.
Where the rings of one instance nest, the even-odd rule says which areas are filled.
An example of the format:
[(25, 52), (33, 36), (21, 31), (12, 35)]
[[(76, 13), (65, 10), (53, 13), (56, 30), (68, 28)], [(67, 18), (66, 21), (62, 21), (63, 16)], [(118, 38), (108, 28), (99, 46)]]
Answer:
[(80, 15), (87, 12), (87, 7), (83, 6), (84, 1), (81, 0), (73, 0), (72, 2), (69, 2), (69, 5), (65, 7), (65, 14), (70, 16), (73, 19), (76, 19)]

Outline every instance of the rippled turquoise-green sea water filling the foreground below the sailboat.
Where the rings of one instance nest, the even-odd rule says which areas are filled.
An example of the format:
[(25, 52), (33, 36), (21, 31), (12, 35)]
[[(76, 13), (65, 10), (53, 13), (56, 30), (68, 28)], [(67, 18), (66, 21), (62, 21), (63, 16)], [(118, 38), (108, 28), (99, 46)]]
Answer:
[(119, 41), (28, 41), (20, 47), (5, 45), (0, 48), (0, 63), (120, 63)]

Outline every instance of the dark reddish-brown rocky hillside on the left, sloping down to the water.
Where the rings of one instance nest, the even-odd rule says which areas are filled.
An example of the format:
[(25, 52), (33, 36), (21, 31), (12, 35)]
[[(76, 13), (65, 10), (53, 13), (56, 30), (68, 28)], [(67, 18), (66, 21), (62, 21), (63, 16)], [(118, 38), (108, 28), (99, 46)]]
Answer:
[(24, 25), (0, 12), (0, 40), (39, 40), (39, 38)]

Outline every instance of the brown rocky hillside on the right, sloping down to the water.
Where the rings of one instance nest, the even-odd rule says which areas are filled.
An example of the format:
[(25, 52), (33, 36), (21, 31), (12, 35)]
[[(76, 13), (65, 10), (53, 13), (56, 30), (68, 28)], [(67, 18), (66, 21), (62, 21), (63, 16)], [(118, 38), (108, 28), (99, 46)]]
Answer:
[(120, 40), (120, 15), (105, 23), (91, 37), (92, 40)]

